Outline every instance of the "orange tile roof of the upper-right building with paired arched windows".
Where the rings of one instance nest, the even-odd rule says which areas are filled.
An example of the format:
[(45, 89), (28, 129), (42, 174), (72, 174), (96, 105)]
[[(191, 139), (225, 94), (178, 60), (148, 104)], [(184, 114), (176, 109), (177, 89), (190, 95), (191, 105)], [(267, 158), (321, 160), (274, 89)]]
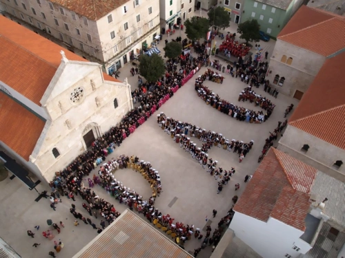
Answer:
[(345, 17), (302, 6), (277, 38), (322, 56), (330, 56), (345, 48)]

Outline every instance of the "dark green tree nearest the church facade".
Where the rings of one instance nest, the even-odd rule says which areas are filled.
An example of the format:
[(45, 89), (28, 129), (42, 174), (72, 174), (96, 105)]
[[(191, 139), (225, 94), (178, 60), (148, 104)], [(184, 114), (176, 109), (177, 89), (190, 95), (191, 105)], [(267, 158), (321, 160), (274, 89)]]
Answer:
[(148, 82), (155, 83), (166, 72), (163, 58), (158, 54), (140, 56), (139, 72)]

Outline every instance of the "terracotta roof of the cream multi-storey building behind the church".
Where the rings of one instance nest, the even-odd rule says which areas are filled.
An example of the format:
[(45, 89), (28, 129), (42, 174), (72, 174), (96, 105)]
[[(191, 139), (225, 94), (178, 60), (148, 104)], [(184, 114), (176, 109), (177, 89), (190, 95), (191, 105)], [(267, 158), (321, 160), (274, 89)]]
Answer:
[[(59, 6), (63, 6), (72, 12), (97, 21), (106, 16), (112, 10), (119, 8), (128, 0), (50, 0)], [(131, 3), (132, 4), (132, 3)], [(132, 7), (132, 6), (131, 6)], [(115, 18), (114, 18), (115, 19)]]

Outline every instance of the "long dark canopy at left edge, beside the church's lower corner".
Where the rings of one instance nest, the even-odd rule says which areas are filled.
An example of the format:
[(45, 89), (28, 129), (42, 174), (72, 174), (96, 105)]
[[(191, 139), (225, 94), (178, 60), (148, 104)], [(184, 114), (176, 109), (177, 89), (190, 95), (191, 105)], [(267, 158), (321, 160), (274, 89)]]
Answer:
[(0, 157), (1, 160), (5, 161), (5, 164), (3, 165), (6, 167), (6, 169), (13, 173), (12, 177), (10, 178), (11, 180), (15, 177), (19, 178), (19, 180), (26, 184), (30, 190), (34, 189), (37, 184), (41, 182), (40, 180), (37, 180), (35, 183), (32, 182), (32, 180), (29, 178), (28, 171), (19, 166), (15, 160), (6, 155), (6, 153), (3, 153), (3, 151), (0, 151)]

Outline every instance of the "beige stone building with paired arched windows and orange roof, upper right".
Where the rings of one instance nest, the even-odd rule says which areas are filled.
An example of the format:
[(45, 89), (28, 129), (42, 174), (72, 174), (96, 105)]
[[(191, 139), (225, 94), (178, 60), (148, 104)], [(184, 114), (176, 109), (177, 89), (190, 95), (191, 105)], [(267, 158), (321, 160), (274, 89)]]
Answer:
[(277, 37), (268, 80), (301, 99), (327, 58), (345, 50), (345, 17), (302, 6)]

